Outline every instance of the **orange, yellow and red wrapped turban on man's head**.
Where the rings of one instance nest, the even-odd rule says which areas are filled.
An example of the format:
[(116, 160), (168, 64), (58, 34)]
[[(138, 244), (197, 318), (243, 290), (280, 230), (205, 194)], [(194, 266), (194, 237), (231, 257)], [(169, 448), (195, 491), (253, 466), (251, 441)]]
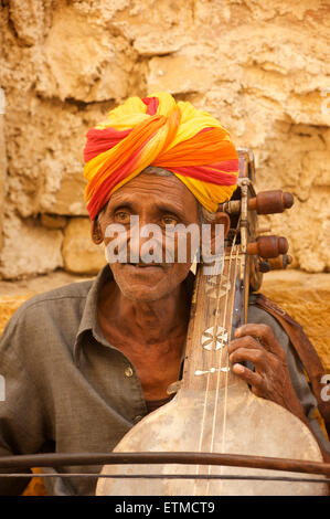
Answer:
[(228, 133), (210, 114), (168, 93), (128, 98), (87, 131), (84, 176), (92, 220), (110, 195), (148, 166), (172, 171), (215, 212), (230, 200), (238, 157)]

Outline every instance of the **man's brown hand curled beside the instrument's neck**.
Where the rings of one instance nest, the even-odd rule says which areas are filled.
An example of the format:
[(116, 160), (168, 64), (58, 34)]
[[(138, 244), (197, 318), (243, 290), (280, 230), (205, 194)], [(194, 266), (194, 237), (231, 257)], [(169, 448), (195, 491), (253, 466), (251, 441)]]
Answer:
[[(291, 383), (286, 353), (267, 325), (244, 325), (228, 346), (233, 373), (251, 385), (252, 392), (272, 400), (307, 423)], [(238, 362), (253, 362), (255, 371)]]

